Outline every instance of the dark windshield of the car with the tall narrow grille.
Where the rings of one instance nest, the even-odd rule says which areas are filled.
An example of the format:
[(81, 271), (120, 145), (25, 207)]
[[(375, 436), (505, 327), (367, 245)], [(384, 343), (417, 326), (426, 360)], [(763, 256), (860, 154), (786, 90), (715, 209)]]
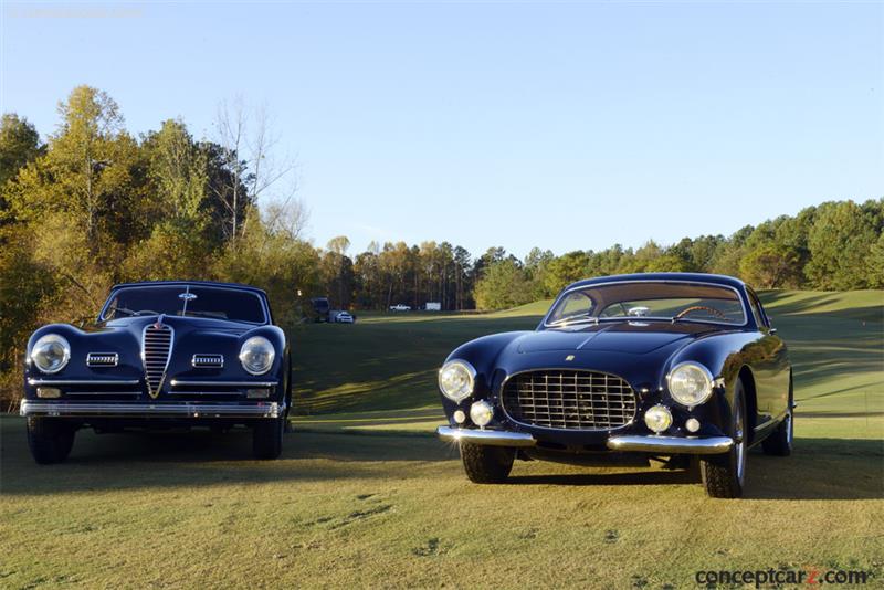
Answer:
[(212, 317), (266, 324), (261, 297), (253, 292), (196, 285), (144, 285), (110, 294), (101, 319), (139, 315)]

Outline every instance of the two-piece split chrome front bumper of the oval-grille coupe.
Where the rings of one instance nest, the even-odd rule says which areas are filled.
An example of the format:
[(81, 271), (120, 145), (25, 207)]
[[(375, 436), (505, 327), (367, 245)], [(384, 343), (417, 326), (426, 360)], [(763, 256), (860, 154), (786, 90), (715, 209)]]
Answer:
[[(453, 429), (439, 426), (436, 434), (443, 441), (469, 442), (487, 446), (535, 446), (537, 440), (524, 432), (502, 430)], [(622, 435), (608, 439), (606, 446), (611, 451), (659, 453), (661, 455), (714, 455), (726, 453), (734, 445), (729, 436), (682, 438)]]

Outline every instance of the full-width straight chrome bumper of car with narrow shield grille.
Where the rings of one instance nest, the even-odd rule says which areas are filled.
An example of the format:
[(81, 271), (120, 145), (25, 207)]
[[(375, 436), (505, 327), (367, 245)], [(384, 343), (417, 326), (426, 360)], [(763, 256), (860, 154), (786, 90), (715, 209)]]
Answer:
[(23, 400), (21, 415), (101, 417), (101, 418), (280, 418), (285, 403), (263, 402), (249, 405), (232, 403), (66, 403)]

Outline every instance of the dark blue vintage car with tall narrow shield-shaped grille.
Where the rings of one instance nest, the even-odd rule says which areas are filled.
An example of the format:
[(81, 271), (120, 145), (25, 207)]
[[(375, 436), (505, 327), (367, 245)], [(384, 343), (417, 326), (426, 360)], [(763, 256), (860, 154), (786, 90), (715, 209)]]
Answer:
[(292, 403), (290, 348), (266, 294), (196, 281), (116, 285), (87, 327), (43, 326), (28, 341), (28, 442), (64, 461), (78, 429), (253, 431), (275, 459)]

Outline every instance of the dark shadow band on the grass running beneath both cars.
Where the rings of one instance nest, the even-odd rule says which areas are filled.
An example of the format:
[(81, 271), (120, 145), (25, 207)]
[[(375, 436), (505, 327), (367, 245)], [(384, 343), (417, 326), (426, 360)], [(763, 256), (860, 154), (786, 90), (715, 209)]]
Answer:
[[(375, 432), (294, 433), (286, 435), (283, 456), (255, 461), (251, 435), (190, 433), (78, 433), (71, 459), (60, 465), (36, 465), (24, 441), (24, 423), (2, 420), (0, 493), (45, 495), (212, 485), (261, 485), (280, 482), (329, 482), (346, 478), (401, 480), (433, 475), (414, 462), (457, 461), (457, 449), (430, 436)], [(411, 462), (411, 465), (407, 462)], [(543, 462), (534, 471), (543, 470)], [(877, 499), (884, 497), (884, 442), (880, 440), (798, 439), (791, 457), (758, 452), (748, 461), (746, 497), (757, 499)], [(439, 475), (440, 477), (443, 475)], [(465, 480), (464, 480), (465, 481)], [(612, 472), (586, 467), (572, 474), (511, 477), (514, 485), (667, 486), (696, 483), (686, 471)]]

